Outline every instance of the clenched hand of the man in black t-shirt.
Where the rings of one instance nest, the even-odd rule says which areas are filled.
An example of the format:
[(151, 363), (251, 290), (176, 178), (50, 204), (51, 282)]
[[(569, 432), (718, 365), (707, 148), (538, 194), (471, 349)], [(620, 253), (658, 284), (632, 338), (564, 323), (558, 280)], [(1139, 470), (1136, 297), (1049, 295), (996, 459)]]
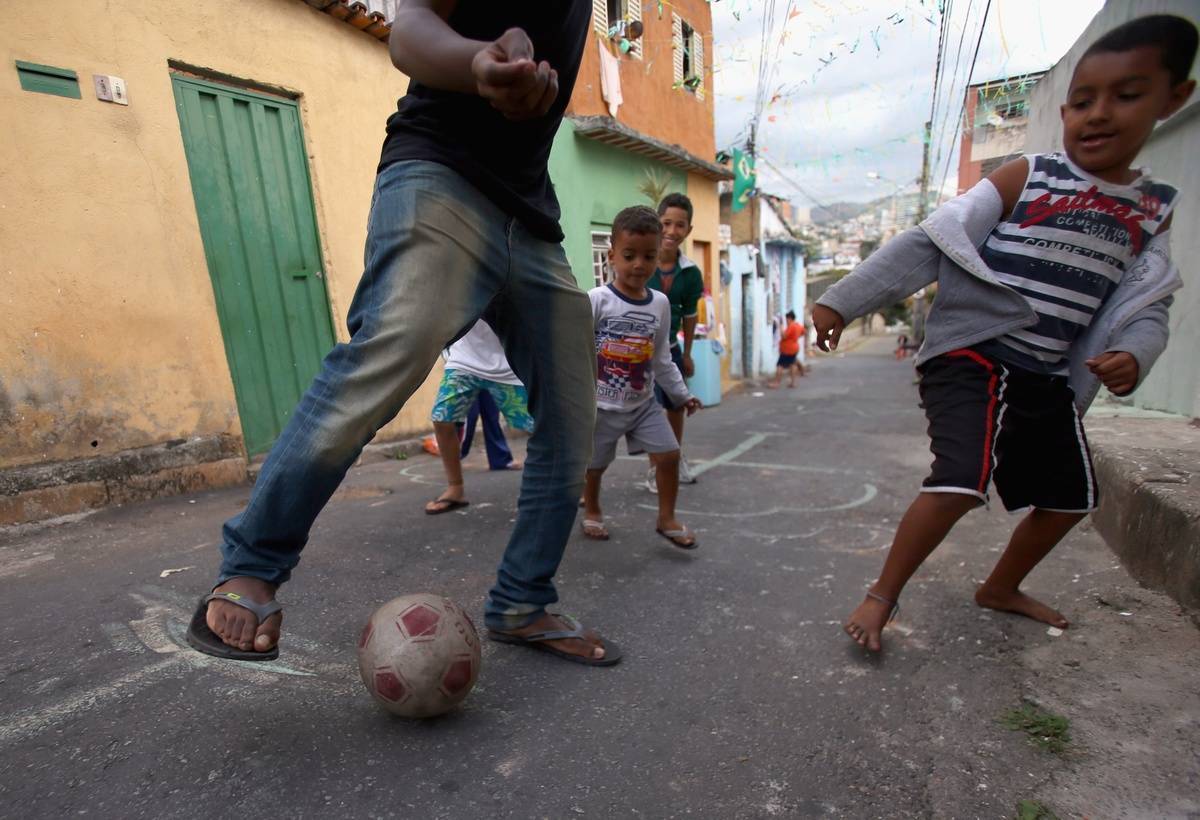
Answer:
[(533, 59), (533, 42), (521, 29), (509, 29), (481, 48), (470, 61), (479, 96), (510, 120), (532, 120), (550, 110), (558, 97), (558, 72)]

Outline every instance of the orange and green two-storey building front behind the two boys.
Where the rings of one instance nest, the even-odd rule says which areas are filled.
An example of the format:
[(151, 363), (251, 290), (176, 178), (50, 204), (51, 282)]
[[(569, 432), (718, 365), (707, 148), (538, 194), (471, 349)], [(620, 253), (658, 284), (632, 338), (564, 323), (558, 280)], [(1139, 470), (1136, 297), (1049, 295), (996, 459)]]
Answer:
[[(637, 38), (626, 36), (634, 23), (642, 28)], [(714, 162), (712, 37), (704, 0), (658, 7), (595, 0), (592, 42), (550, 173), (563, 209), (564, 247), (582, 288), (606, 281), (612, 220), (620, 209), (656, 207), (670, 192), (688, 194), (695, 215), (684, 253), (703, 271), (708, 295), (697, 335), (716, 337), (726, 315), (718, 182), (732, 173)], [(709, 349), (697, 342), (702, 355)]]

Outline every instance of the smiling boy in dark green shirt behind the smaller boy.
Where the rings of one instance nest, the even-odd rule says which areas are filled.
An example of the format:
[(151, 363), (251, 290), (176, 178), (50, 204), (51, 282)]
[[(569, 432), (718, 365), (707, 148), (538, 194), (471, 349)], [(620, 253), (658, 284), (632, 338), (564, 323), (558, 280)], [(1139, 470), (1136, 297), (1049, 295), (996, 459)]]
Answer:
[[(659, 245), (659, 259), (654, 275), (647, 287), (666, 294), (671, 304), (671, 361), (674, 363), (684, 378), (696, 375), (696, 365), (691, 360), (691, 346), (696, 340), (696, 319), (700, 315), (700, 299), (704, 295), (704, 276), (700, 267), (683, 255), (683, 243), (691, 235), (692, 207), (691, 199), (682, 193), (668, 193), (659, 203), (659, 220), (662, 222), (662, 241)], [(683, 347), (679, 346), (679, 330), (683, 330)], [(655, 390), (659, 403), (667, 411), (671, 430), (683, 447), (684, 408), (671, 401), (671, 396), (661, 389)], [(655, 492), (656, 469), (652, 466), (647, 477), (647, 486)], [(695, 484), (688, 460), (679, 456), (679, 481)]]

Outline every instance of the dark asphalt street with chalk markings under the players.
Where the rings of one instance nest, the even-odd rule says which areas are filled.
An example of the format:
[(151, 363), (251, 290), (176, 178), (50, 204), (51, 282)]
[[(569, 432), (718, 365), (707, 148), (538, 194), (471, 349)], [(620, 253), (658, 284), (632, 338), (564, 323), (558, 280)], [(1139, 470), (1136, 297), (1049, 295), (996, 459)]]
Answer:
[[(968, 517), (910, 588), (882, 659), (838, 627), (928, 465), (923, 430), (912, 369), (880, 343), (822, 360), (796, 390), (727, 397), (689, 426), (695, 555), (655, 537), (644, 462), (618, 461), (613, 540), (576, 535), (559, 583), (564, 609), (625, 662), (486, 645), (464, 707), (422, 723), (370, 701), (354, 641), (402, 592), (480, 611), (518, 475), (479, 456), (472, 507), (439, 517), (420, 513), (433, 459), (352, 472), (284, 589), (268, 669), (181, 648), (246, 489), (0, 535), (0, 813), (1012, 816), (1079, 770), (996, 724), (1027, 694), (1022, 653), (1068, 646), (970, 603), (1009, 519)], [(1088, 531), (1052, 561), (1033, 591), (1069, 616), (1091, 600), (1084, 586), (1128, 585)]]

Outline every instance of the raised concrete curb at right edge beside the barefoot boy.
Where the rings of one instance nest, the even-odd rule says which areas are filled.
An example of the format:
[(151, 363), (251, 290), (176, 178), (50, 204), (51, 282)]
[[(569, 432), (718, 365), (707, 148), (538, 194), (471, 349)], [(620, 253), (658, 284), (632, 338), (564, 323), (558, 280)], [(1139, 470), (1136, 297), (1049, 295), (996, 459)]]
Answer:
[(1103, 417), (1088, 426), (1097, 531), (1139, 582), (1200, 609), (1200, 429)]

